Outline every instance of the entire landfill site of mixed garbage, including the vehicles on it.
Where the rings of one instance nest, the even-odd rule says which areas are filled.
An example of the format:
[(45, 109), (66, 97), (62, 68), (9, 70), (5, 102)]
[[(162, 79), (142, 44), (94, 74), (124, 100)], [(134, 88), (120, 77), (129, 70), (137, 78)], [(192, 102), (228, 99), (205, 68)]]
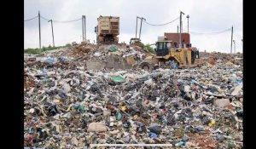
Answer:
[[(117, 22), (112, 35), (99, 23), (97, 43), (24, 54), (24, 146), (242, 148), (243, 55), (167, 33), (151, 53), (119, 43)], [(91, 146), (106, 144), (119, 146)]]

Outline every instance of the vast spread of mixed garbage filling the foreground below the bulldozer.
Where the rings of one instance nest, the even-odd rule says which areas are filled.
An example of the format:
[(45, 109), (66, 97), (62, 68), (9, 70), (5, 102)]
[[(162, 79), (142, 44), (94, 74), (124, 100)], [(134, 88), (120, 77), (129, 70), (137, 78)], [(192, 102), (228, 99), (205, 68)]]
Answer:
[[(101, 54), (133, 51), (108, 50)], [(84, 59), (72, 51), (37, 59), (24, 68), (24, 146), (243, 146), (240, 65), (217, 61), (182, 70), (99, 71), (84, 69)]]

